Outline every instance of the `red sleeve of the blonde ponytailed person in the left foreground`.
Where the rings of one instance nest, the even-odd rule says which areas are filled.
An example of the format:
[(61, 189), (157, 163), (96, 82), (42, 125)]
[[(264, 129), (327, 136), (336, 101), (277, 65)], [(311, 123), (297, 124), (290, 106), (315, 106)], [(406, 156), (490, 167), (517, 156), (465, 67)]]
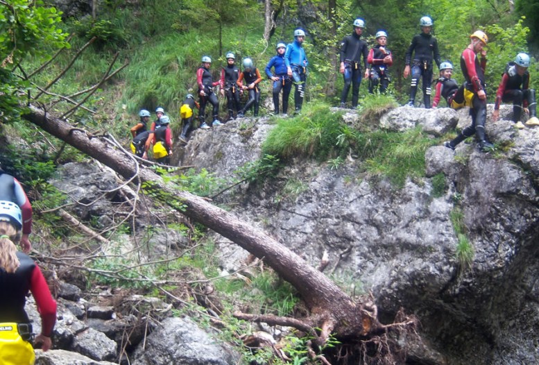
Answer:
[(35, 298), (37, 311), (41, 316), (41, 333), (46, 337), (51, 337), (54, 324), (56, 323), (56, 302), (51, 296), (49, 286), (37, 265), (32, 271), (30, 279), (30, 291)]

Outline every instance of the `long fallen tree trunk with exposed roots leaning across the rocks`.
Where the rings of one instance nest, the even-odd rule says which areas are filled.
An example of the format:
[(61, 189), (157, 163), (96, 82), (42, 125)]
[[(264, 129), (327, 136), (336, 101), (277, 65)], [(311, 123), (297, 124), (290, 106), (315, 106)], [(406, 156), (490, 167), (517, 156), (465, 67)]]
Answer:
[[(65, 121), (56, 119), (33, 106), (30, 112), (24, 115), (24, 119), (106, 164), (123, 178), (128, 180), (135, 178), (140, 182), (151, 183), (163, 194), (175, 196), (185, 205), (182, 214), (203, 223), (207, 228), (227, 237), (256, 257), (263, 258), (264, 262), (271, 266), (281, 278), (298, 290), (302, 300), (311, 311), (309, 318), (298, 320), (302, 325), (296, 323), (297, 327), (302, 330), (311, 328), (311, 332), (314, 332), (314, 328), (320, 328), (321, 331), (318, 331), (320, 341), (325, 341), (332, 332), (339, 338), (368, 338), (369, 335), (379, 334), (386, 330), (387, 327), (377, 320), (373, 303), (371, 305), (354, 303), (354, 300), (332, 280), (310, 266), (289, 248), (203, 198), (166, 185), (162, 178), (151, 169), (139, 166), (132, 155), (119, 151), (119, 148), (115, 150), (114, 146), (108, 143), (106, 136), (89, 135), (84, 130), (74, 128)], [(178, 209), (177, 204), (173, 207)], [(238, 316), (256, 319), (255, 316), (242, 314)], [(280, 323), (284, 319), (264, 316), (264, 321)]]

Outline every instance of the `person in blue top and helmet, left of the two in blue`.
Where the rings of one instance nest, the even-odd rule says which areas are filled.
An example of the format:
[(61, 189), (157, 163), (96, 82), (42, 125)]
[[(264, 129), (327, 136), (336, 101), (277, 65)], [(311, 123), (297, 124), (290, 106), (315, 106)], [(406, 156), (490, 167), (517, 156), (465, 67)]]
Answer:
[[(284, 51), (286, 44), (277, 43), (275, 51), (277, 55), (273, 56), (266, 65), (266, 76), (273, 82), (273, 110), (279, 114), (279, 94), (282, 90), (282, 114), (288, 113), (288, 99), (292, 90), (292, 79), (286, 74), (286, 64), (284, 63)], [(273, 68), (273, 74), (271, 69)]]

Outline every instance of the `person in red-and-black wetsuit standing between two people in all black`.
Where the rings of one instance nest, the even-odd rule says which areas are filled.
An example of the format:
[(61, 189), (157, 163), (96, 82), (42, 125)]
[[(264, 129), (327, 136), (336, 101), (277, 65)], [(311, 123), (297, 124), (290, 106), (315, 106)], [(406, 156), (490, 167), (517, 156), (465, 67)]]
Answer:
[(370, 49), (367, 57), (367, 62), (371, 65), (368, 92), (374, 94), (379, 86), (380, 94), (385, 94), (389, 86), (389, 67), (393, 65), (393, 58), (386, 47), (387, 33), (377, 31), (375, 37), (378, 44)]

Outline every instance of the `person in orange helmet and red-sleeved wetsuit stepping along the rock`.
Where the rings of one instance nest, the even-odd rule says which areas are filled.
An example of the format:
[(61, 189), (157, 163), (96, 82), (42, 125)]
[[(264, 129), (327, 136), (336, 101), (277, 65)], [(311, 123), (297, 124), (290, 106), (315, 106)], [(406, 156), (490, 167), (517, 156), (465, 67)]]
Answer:
[[(486, 68), (486, 46), (487, 35), (482, 31), (475, 31), (470, 35), (470, 44), (464, 49), (461, 56), (461, 69), (466, 79), (463, 87), (456, 92), (454, 100), (463, 99), (466, 105), (470, 105), (472, 124), (464, 128), (460, 135), (451, 142), (445, 142), (444, 146), (455, 149), (456, 145), (464, 139), (476, 135), (479, 142), (479, 151), (488, 152), (494, 145), (487, 141), (485, 133), (486, 123), (486, 90), (485, 90), (485, 68)], [(477, 58), (481, 55), (481, 60)]]

